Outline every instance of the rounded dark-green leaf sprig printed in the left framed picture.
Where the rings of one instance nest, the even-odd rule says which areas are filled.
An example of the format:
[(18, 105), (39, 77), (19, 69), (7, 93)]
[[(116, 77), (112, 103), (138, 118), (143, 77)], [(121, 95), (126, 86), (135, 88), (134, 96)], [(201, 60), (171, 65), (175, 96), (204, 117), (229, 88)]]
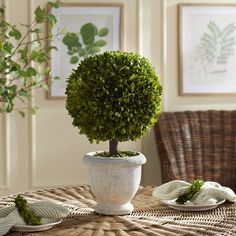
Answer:
[(98, 39), (107, 36), (108, 28), (98, 29), (92, 23), (86, 23), (81, 26), (80, 33), (67, 32), (62, 42), (67, 47), (67, 53), (71, 64), (77, 64), (80, 59), (95, 55), (101, 51), (101, 47), (107, 45), (106, 40)]

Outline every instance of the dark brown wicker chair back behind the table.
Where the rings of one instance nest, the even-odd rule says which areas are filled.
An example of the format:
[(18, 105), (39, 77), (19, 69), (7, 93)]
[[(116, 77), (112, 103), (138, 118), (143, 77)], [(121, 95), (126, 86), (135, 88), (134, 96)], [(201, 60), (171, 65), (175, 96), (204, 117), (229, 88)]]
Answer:
[(202, 178), (236, 191), (236, 111), (163, 112), (155, 136), (163, 183)]

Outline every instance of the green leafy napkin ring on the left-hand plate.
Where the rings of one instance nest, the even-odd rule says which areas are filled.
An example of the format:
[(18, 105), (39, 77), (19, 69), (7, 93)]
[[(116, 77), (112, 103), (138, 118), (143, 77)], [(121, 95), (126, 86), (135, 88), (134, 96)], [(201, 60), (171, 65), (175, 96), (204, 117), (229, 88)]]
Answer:
[(41, 219), (30, 209), (29, 204), (22, 195), (17, 195), (14, 202), (19, 215), (27, 225), (41, 225)]

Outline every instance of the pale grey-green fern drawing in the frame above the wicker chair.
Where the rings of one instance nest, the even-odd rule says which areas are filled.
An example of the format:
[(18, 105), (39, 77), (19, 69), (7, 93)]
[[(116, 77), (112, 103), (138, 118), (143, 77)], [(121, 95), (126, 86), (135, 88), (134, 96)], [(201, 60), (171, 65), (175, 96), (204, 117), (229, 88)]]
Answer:
[[(227, 71), (227, 63), (230, 56), (234, 55), (235, 38), (232, 33), (236, 26), (228, 24), (222, 30), (213, 21), (207, 24), (207, 32), (204, 32), (200, 43), (196, 47), (196, 56), (203, 67), (205, 74), (224, 73)], [(221, 68), (219, 66), (221, 65)], [(224, 65), (222, 67), (222, 65)]]

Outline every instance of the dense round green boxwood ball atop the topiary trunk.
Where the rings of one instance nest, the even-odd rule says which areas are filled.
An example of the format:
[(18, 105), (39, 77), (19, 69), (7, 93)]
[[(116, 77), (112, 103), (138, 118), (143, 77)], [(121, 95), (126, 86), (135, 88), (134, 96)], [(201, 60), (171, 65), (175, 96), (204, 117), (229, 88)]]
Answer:
[(157, 121), (162, 86), (138, 54), (109, 51), (86, 58), (67, 82), (66, 109), (90, 142), (136, 140)]

